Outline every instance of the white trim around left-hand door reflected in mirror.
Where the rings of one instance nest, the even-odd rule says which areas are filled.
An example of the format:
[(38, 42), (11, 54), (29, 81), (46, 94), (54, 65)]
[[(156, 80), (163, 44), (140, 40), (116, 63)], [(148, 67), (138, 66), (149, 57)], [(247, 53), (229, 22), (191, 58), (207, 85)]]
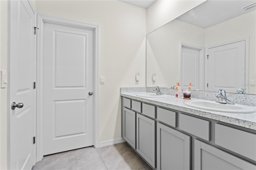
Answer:
[(199, 89), (204, 90), (204, 47), (180, 42), (180, 80), (182, 78), (182, 47), (199, 50)]

